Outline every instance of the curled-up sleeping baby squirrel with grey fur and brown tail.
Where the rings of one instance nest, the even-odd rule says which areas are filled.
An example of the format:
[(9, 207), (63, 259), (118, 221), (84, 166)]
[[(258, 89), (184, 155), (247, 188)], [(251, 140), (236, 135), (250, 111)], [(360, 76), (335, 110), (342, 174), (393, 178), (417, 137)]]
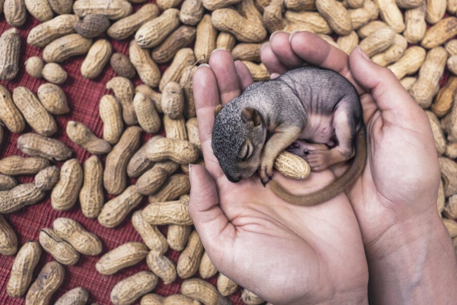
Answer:
[(249, 178), (258, 169), (264, 185), (286, 148), (303, 157), (313, 171), (355, 155), (342, 176), (311, 194), (290, 194), (271, 180), (277, 196), (305, 206), (343, 192), (361, 175), (367, 159), (362, 105), (354, 86), (334, 71), (312, 66), (253, 83), (225, 107), (219, 106), (211, 144), (228, 180)]

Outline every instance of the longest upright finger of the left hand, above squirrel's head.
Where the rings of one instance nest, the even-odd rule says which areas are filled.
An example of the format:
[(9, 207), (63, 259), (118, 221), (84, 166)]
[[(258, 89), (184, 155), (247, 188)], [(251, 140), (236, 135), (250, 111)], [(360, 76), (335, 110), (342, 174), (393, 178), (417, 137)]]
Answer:
[(209, 64), (216, 76), (220, 102), (225, 105), (241, 94), (240, 82), (232, 54), (227, 50), (214, 50)]

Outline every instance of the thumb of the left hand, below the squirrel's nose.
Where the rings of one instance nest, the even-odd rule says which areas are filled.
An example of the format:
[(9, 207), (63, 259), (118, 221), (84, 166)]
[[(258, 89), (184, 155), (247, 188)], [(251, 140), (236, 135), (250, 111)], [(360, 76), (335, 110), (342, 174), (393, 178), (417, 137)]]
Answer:
[(191, 165), (189, 178), (191, 185), (188, 206), (190, 218), (210, 257), (222, 259), (223, 256), (217, 254), (230, 253), (230, 251), (224, 251), (223, 247), (232, 243), (235, 228), (228, 222), (218, 206), (216, 184), (205, 167)]

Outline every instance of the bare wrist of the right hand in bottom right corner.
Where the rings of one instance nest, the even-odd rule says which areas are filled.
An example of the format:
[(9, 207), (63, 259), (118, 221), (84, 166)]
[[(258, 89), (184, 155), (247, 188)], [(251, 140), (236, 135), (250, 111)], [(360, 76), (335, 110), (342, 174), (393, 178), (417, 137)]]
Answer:
[(457, 292), (452, 241), (435, 210), (390, 226), (365, 245), (374, 304), (451, 303)]

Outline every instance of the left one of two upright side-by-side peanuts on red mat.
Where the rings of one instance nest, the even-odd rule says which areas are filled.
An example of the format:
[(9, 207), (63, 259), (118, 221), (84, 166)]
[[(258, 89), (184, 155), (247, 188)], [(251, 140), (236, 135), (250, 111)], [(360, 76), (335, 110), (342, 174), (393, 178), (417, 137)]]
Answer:
[(75, 205), (82, 179), (83, 171), (78, 159), (70, 159), (62, 165), (60, 179), (51, 193), (51, 205), (55, 210), (66, 211)]

